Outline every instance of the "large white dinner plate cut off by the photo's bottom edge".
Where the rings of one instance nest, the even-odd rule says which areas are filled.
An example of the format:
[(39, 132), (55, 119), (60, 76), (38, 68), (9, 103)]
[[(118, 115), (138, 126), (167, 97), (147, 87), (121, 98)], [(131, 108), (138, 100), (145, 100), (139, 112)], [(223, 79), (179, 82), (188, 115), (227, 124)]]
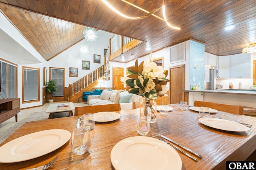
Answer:
[(118, 142), (110, 154), (115, 170), (181, 170), (176, 150), (152, 137), (128, 137)]

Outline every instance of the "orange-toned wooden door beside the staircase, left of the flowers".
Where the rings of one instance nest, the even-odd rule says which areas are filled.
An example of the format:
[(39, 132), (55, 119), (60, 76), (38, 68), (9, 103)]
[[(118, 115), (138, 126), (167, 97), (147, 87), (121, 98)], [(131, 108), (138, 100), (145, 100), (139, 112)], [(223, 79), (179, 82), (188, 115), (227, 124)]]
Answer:
[(124, 84), (120, 78), (124, 76), (124, 68), (113, 67), (113, 90), (124, 90)]

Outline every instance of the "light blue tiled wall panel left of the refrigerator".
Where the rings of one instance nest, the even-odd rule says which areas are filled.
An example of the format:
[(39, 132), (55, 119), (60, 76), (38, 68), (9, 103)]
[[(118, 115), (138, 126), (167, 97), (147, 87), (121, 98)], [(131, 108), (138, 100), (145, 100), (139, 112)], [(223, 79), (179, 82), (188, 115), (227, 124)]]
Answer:
[[(204, 63), (204, 44), (190, 40), (190, 84), (200, 82), (202, 90), (204, 90)], [(194, 64), (197, 64), (196, 68)]]

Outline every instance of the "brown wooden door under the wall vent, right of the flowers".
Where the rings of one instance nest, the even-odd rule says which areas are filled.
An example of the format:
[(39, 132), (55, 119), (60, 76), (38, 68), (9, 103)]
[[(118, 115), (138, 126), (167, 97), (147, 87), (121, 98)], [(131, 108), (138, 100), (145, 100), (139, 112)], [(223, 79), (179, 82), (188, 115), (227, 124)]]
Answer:
[(180, 103), (181, 101), (188, 102), (184, 92), (180, 91), (185, 89), (185, 64), (170, 67), (169, 77), (170, 104)]

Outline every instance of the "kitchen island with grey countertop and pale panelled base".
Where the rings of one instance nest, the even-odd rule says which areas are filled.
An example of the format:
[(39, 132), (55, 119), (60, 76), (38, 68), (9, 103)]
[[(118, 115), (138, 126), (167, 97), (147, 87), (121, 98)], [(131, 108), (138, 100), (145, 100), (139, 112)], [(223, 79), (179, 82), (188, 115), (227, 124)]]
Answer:
[(194, 101), (214, 102), (236, 106), (256, 107), (256, 91), (247, 89), (226, 90), (180, 90), (188, 92), (188, 104), (194, 105)]

